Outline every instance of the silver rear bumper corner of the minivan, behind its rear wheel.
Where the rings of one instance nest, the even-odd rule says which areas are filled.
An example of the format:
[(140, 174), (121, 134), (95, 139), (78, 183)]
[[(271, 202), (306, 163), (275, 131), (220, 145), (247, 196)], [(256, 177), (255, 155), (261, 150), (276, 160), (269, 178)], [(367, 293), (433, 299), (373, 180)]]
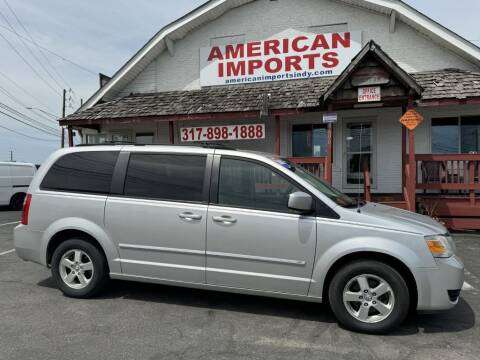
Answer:
[(41, 232), (29, 231), (28, 226), (18, 225), (13, 230), (17, 255), (23, 260), (45, 265), (42, 256), (42, 234)]

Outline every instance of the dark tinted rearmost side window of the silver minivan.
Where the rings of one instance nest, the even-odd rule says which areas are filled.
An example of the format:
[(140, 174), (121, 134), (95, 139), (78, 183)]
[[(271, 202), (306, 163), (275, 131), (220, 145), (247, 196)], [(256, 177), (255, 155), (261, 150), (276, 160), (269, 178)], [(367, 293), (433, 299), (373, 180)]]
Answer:
[(41, 188), (108, 194), (118, 152), (92, 151), (67, 154), (50, 168)]

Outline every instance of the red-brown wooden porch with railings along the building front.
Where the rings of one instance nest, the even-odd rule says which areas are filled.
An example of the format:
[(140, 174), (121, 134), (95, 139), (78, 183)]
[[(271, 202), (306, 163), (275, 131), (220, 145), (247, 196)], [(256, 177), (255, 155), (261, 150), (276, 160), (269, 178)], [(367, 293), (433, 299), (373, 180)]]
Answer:
[[(369, 169), (365, 167), (363, 198), (437, 218), (450, 229), (480, 230), (480, 154), (413, 158), (411, 166), (405, 157), (402, 194), (372, 194)], [(290, 160), (331, 183), (326, 157)]]

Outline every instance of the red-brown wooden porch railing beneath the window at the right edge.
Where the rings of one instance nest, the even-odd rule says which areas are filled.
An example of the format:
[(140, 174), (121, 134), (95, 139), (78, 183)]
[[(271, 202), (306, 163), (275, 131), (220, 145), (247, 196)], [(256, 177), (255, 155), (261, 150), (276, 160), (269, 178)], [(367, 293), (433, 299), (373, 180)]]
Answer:
[(480, 154), (416, 155), (416, 188), (457, 192), (475, 202), (480, 191)]

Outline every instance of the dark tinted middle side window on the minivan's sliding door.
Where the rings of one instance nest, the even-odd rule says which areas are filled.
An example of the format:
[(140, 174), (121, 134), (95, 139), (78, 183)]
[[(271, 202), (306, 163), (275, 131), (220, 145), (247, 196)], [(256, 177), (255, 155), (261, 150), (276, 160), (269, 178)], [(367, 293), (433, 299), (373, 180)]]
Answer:
[(201, 202), (205, 163), (206, 156), (132, 154), (125, 195)]

